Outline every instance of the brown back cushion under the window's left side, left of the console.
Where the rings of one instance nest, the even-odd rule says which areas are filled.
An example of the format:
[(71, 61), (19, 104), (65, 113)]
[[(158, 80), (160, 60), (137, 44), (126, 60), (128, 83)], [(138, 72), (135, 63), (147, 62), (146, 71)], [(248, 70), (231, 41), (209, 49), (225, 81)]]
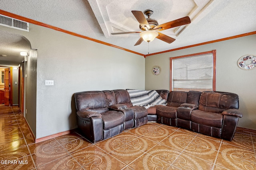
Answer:
[(167, 106), (180, 107), (181, 104), (187, 102), (188, 92), (172, 91), (167, 99)]

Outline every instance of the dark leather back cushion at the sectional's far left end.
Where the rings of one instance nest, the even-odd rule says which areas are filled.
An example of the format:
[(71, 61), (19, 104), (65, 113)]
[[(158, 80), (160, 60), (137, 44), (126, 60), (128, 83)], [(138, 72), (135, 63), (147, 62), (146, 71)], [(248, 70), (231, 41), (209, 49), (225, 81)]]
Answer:
[(76, 111), (88, 110), (104, 113), (108, 111), (107, 101), (102, 91), (79, 92), (75, 95)]

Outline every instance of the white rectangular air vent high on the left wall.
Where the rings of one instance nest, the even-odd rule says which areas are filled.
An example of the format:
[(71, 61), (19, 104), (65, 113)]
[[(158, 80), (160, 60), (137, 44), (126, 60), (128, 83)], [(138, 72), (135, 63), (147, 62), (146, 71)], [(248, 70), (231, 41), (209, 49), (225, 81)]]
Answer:
[(20, 29), (23, 31), (29, 31), (28, 22), (24, 22), (21, 20), (3, 16), (3, 15), (0, 15), (0, 25), (15, 28), (15, 29)]

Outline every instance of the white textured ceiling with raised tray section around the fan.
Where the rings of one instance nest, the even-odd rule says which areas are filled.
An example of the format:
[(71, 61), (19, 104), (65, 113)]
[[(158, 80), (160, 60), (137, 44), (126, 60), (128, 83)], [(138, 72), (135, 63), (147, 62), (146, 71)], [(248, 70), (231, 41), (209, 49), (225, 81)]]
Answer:
[[(0, 3), (1, 10), (142, 54), (256, 31), (256, 0), (0, 0)], [(155, 39), (134, 46), (139, 34), (111, 35), (140, 31), (131, 11), (147, 9), (154, 10), (151, 18), (159, 24), (184, 16), (189, 16), (191, 23), (161, 31), (176, 39), (171, 44)]]

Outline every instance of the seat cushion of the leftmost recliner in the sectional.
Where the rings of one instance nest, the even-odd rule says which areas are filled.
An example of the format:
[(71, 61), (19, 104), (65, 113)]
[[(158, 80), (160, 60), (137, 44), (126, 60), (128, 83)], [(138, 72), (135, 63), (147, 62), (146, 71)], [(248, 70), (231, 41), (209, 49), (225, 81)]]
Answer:
[(103, 129), (109, 129), (124, 123), (124, 113), (120, 111), (107, 111), (101, 114)]

